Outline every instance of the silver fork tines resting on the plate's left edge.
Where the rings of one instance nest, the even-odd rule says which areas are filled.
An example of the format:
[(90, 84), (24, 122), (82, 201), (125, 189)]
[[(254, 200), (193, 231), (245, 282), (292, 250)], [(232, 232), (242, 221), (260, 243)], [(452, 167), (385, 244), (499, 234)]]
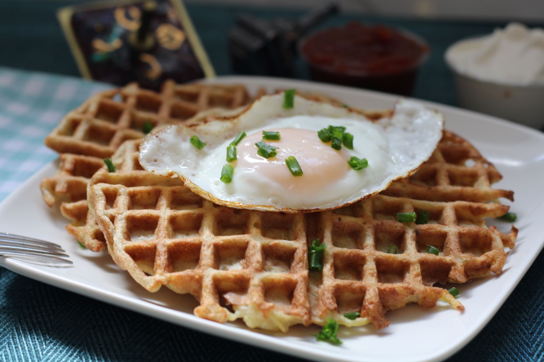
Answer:
[[(0, 255), (33, 257), (47, 261), (73, 264), (60, 245), (40, 239), (0, 232)], [(65, 258), (63, 258), (65, 257)]]

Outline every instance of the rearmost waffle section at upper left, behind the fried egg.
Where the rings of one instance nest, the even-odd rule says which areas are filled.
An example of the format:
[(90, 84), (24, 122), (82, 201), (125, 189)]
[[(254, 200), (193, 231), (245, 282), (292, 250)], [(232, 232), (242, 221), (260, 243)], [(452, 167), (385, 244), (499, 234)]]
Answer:
[(202, 110), (234, 109), (251, 98), (243, 85), (178, 85), (166, 81), (160, 93), (137, 84), (96, 94), (68, 113), (45, 139), (59, 153), (108, 157), (127, 139), (144, 136), (153, 126), (181, 124)]

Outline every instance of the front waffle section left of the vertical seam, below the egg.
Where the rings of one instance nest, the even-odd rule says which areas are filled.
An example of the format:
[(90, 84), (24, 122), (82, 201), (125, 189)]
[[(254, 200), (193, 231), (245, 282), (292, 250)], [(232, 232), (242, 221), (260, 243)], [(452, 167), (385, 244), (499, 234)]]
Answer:
[[(138, 146), (126, 142), (116, 156), (137, 161)], [(147, 290), (193, 294), (195, 314), (219, 322), (236, 319), (225, 303), (253, 308), (240, 315), (252, 327), (267, 326), (251, 320), (267, 311), (287, 327), (310, 322), (303, 215), (218, 207), (145, 171), (100, 170), (89, 197), (114, 260)], [(285, 330), (278, 323), (269, 329)]]

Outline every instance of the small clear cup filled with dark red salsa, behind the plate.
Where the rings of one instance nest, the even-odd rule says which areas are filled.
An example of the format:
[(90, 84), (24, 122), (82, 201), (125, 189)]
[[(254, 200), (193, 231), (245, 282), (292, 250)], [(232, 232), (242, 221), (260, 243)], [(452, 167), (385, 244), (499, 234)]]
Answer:
[(314, 33), (300, 43), (312, 80), (409, 96), (429, 53), (407, 31), (351, 22)]

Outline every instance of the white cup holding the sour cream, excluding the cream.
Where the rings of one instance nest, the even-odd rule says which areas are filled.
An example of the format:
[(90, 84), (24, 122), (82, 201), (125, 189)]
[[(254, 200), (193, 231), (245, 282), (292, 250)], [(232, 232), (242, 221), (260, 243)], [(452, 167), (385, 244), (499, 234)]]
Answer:
[(446, 56), (444, 59), (455, 75), (461, 107), (513, 120), (536, 129), (544, 128), (544, 85), (508, 85), (476, 79), (459, 73)]

